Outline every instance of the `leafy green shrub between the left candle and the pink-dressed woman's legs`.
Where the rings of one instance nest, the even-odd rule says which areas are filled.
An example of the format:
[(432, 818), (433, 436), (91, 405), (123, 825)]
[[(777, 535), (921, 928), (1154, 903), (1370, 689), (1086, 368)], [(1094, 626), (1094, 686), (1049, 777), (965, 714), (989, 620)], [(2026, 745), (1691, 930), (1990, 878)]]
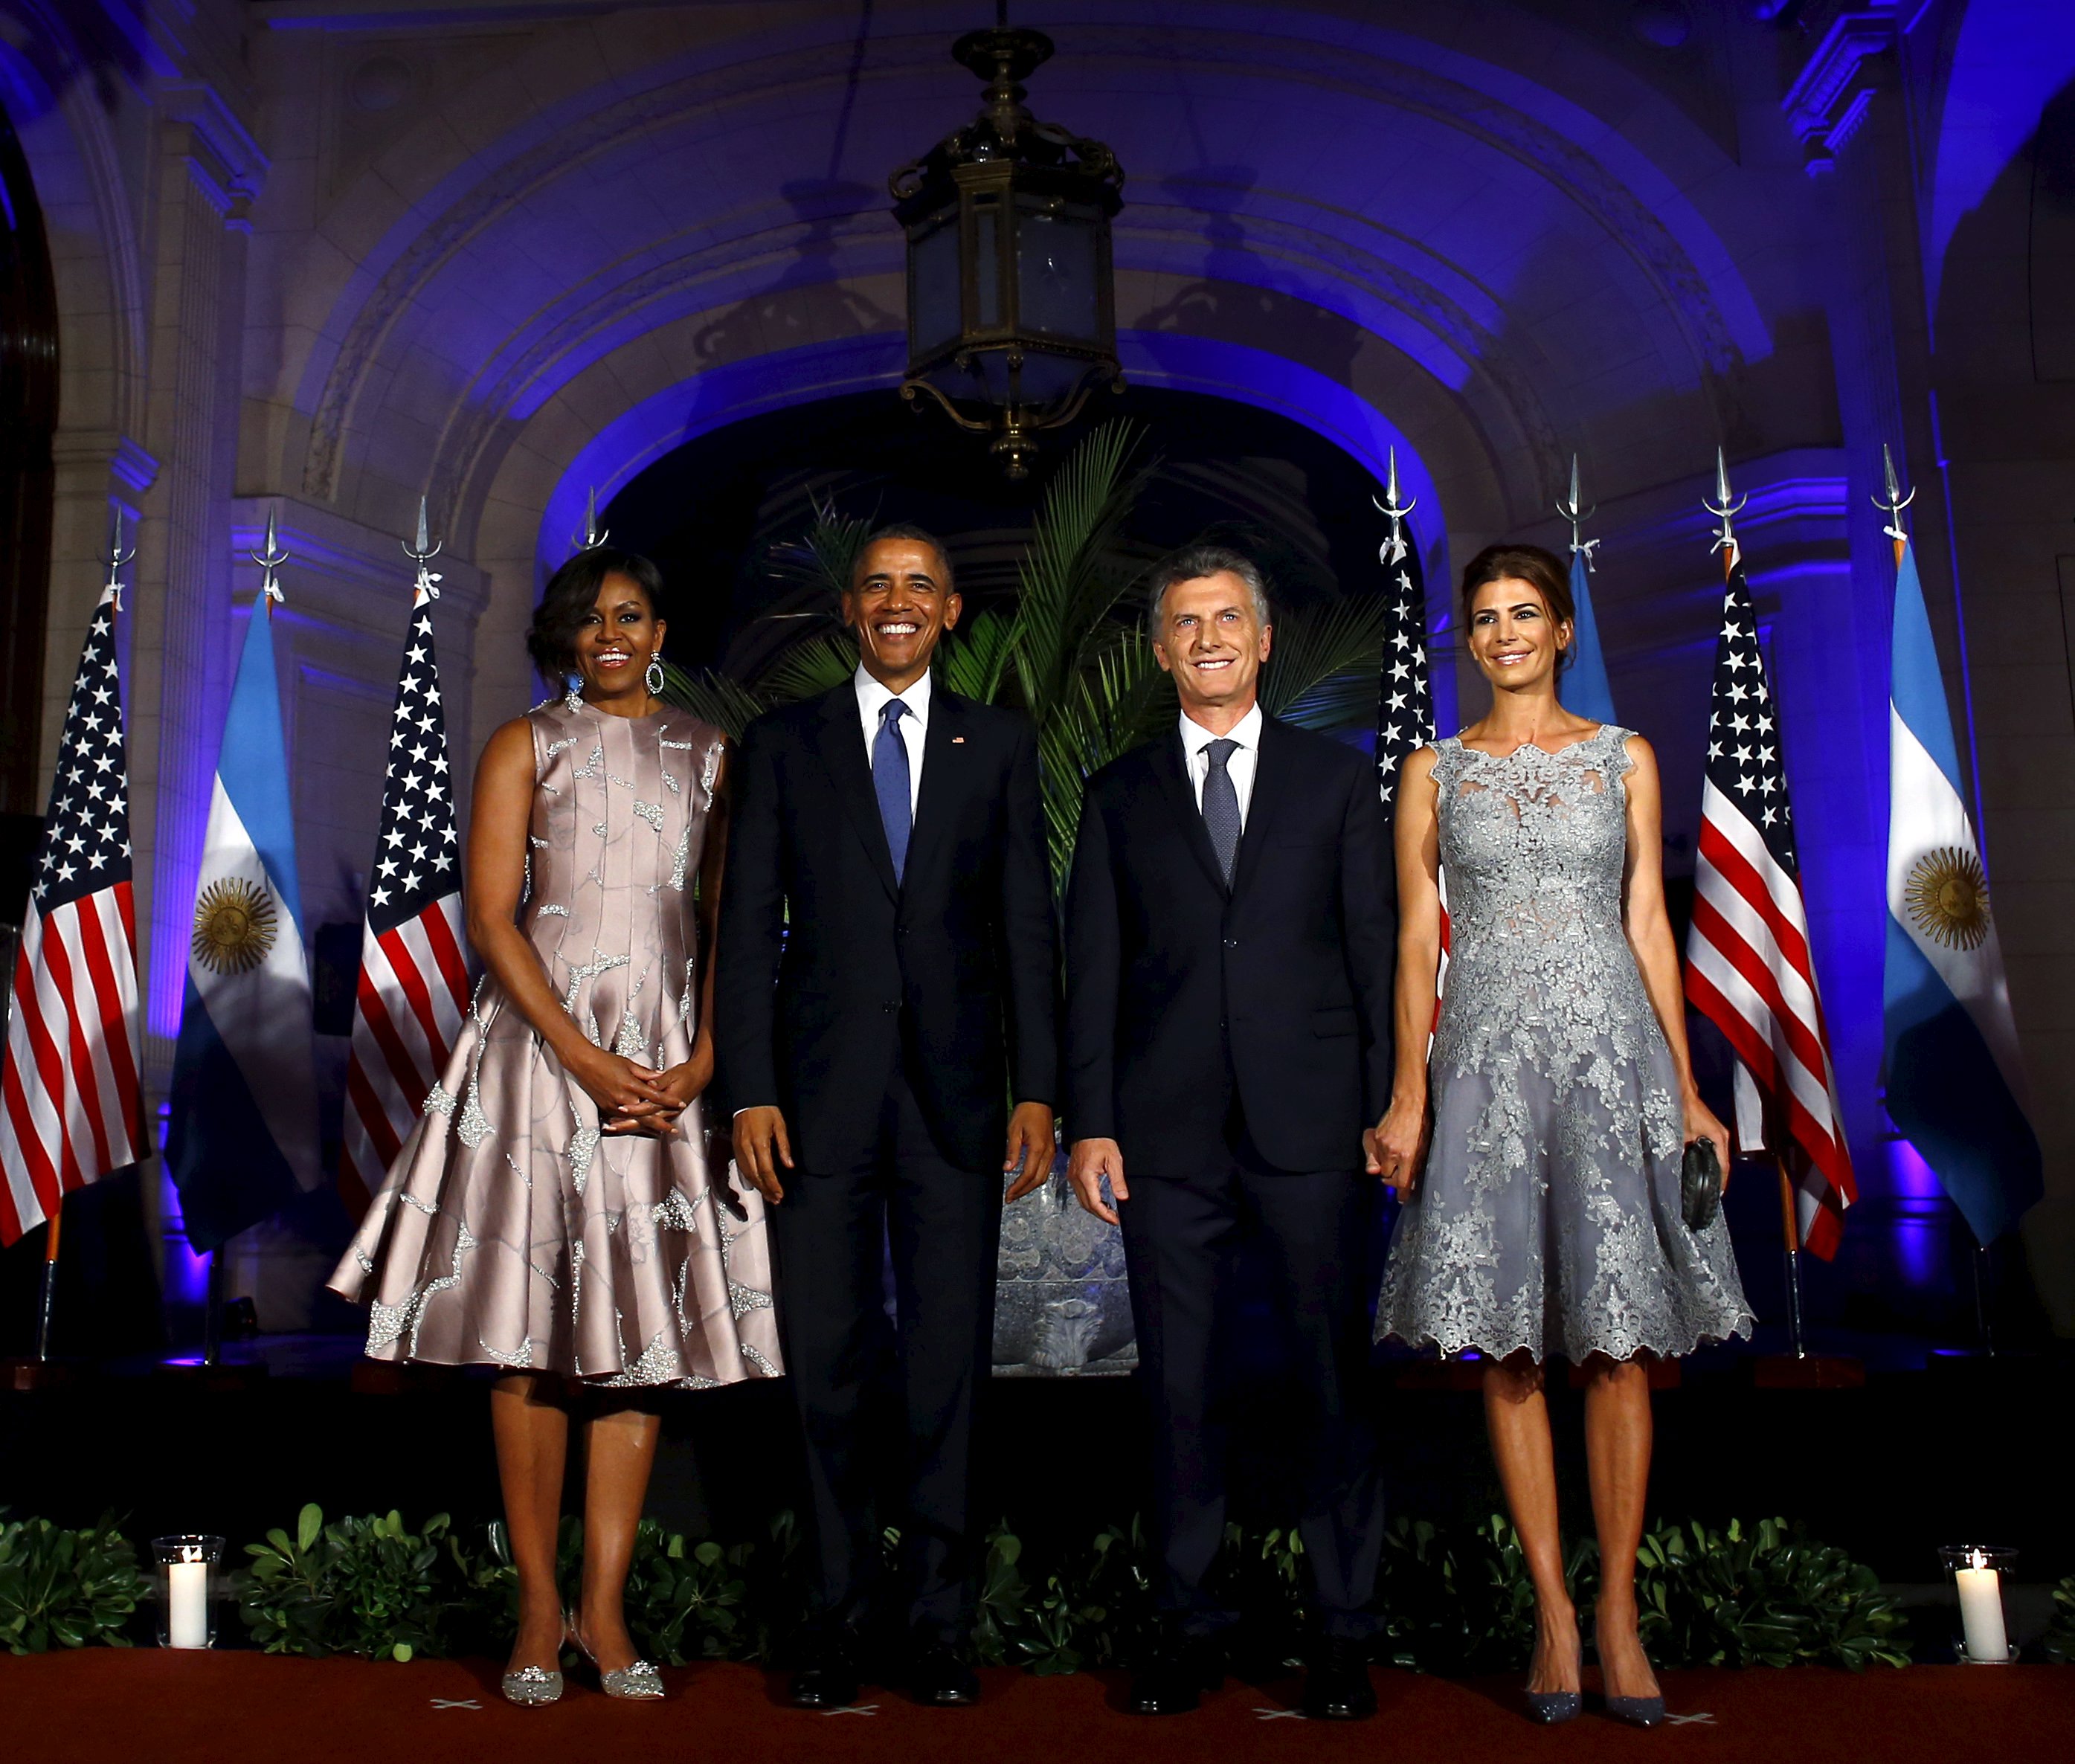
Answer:
[(423, 1532), (407, 1532), (398, 1513), (326, 1525), (311, 1503), (295, 1538), (276, 1527), (245, 1546), (245, 1627), (268, 1654), (450, 1654), (469, 1608), (502, 1602), (502, 1575), (471, 1561), (448, 1525), (444, 1513)]

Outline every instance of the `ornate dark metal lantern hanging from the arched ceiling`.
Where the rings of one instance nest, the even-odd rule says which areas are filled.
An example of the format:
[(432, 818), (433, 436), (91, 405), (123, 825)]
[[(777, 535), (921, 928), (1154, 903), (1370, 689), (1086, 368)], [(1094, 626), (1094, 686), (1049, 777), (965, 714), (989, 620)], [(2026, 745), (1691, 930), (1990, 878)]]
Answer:
[(988, 81), (977, 120), (886, 187), (907, 230), (909, 365), (901, 396), (928, 392), (961, 428), (992, 434), (1011, 477), (1035, 430), (1069, 423), (1098, 386), (1123, 390), (1110, 218), (1116, 156), (1025, 108), (1042, 31), (969, 31), (952, 56)]

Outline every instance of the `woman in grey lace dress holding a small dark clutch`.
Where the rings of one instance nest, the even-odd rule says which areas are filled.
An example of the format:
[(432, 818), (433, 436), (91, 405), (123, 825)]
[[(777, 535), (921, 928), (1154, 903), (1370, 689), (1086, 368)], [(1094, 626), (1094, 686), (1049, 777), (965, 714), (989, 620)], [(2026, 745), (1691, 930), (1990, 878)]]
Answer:
[[(1405, 1206), (1376, 1330), (1484, 1359), (1492, 1455), (1536, 1583), (1542, 1720), (1579, 1708), (1542, 1370), (1550, 1355), (1585, 1370), (1594, 1642), (1608, 1712), (1648, 1725), (1664, 1704), (1635, 1629), (1645, 1359), (1751, 1328), (1726, 1226), (1691, 1233), (1679, 1204), (1685, 1146), (1712, 1139), (1726, 1170), (1728, 1135), (1687, 1060), (1656, 757), (1556, 701), (1562, 567), (1492, 546), (1463, 573), (1463, 618), (1492, 710), (1411, 755), (1399, 789), (1399, 1065), (1370, 1168)], [(1450, 963), (1434, 1023), (1442, 874)]]

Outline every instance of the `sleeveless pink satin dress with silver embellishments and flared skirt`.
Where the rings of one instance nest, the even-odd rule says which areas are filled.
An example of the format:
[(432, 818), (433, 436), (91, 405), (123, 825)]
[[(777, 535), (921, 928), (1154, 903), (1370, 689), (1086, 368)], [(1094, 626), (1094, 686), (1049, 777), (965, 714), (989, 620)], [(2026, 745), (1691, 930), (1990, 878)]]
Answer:
[[(693, 886), (722, 737), (685, 712), (529, 712), (521, 930), (600, 1046), (691, 1054)], [(670, 1139), (602, 1133), (598, 1104), (486, 977), (446, 1071), (332, 1276), (369, 1303), (367, 1353), (710, 1388), (780, 1368), (764, 1202)]]

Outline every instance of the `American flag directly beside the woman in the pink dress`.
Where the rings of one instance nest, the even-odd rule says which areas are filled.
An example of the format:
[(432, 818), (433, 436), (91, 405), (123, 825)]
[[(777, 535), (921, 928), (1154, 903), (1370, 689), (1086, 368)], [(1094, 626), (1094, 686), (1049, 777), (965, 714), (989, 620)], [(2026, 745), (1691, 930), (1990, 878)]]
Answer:
[(469, 1004), (461, 917), (461, 843), (454, 778), (446, 762), (446, 714), (432, 650), (438, 598), (423, 558), (419, 517), (417, 596), (396, 672), (382, 834), (367, 878), (361, 975), (353, 1000), (347, 1067), (347, 1131), (338, 1187), (355, 1210), (382, 1187), (427, 1092), (446, 1067)]

